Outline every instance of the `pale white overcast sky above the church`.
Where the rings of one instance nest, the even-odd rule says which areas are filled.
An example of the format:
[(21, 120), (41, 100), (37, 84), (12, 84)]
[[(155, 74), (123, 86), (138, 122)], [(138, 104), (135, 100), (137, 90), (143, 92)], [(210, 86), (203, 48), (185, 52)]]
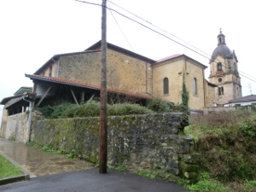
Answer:
[[(101, 0), (88, 0), (102, 4)], [(154, 26), (179, 43), (195, 46), (212, 55), (219, 28), (226, 45), (235, 49), (241, 76), (242, 96), (256, 94), (256, 11), (253, 0), (111, 0), (108, 7), (148, 27)], [(113, 5), (118, 4), (120, 9)], [(148, 20), (130, 15), (131, 13)], [(113, 14), (113, 15), (112, 15)], [(185, 54), (209, 67), (209, 59), (108, 10), (108, 42), (154, 60)], [(102, 8), (74, 0), (0, 0), (0, 101), (13, 96), (20, 86), (32, 86), (32, 74), (56, 54), (81, 51), (101, 39)], [(159, 29), (156, 29), (160, 32)], [(189, 46), (191, 49), (195, 49)], [(196, 49), (195, 49), (196, 50)], [(209, 70), (206, 70), (206, 78)], [(3, 108), (3, 106), (1, 106)], [(0, 109), (0, 113), (1, 113)], [(2, 117), (2, 115), (1, 115)]]

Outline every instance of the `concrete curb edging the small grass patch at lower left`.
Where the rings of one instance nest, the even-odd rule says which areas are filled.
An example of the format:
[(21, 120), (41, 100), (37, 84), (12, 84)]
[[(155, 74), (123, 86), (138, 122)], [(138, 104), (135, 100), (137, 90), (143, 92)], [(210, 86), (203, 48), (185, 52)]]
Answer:
[(14, 166), (19, 166), (21, 168), (21, 172), (24, 173), (22, 175), (15, 176), (15, 177), (2, 178), (2, 179), (0, 179), (0, 185), (20, 182), (20, 181), (26, 181), (30, 178), (31, 175), (32, 175), (32, 177), (36, 177), (35, 175), (31, 174), (26, 168), (20, 166), (20, 164), (18, 164), (15, 160), (9, 158), (8, 155), (3, 154), (3, 152), (1, 152), (1, 151), (0, 151), (0, 154), (3, 155), (4, 158), (9, 160), (11, 162), (11, 164), (13, 164)]

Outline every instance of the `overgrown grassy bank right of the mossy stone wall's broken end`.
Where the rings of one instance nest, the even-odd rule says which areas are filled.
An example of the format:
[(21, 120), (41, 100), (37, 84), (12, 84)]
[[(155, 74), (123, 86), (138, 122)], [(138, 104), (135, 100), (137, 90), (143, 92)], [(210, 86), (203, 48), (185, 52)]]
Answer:
[(256, 191), (256, 113), (247, 110), (190, 116), (185, 134), (201, 154), (199, 182), (190, 191)]

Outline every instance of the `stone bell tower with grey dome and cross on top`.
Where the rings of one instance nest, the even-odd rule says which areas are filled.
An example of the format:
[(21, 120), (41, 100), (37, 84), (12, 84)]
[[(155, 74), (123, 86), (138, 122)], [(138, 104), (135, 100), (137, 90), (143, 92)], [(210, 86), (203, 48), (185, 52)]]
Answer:
[(215, 102), (225, 104), (241, 97), (241, 78), (238, 73), (235, 50), (232, 51), (226, 46), (221, 29), (217, 40), (218, 46), (213, 50), (209, 62), (211, 70), (209, 82), (218, 85), (215, 88)]

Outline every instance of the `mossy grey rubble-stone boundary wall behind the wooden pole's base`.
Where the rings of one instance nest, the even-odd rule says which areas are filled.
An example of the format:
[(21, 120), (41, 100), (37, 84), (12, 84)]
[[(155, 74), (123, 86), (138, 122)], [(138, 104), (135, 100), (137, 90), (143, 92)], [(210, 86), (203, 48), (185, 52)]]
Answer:
[[(188, 116), (183, 113), (108, 117), (108, 165), (195, 182), (199, 157), (190, 154), (192, 137), (181, 135), (185, 125)], [(96, 163), (99, 131), (99, 118), (37, 120), (32, 125), (32, 141)]]

